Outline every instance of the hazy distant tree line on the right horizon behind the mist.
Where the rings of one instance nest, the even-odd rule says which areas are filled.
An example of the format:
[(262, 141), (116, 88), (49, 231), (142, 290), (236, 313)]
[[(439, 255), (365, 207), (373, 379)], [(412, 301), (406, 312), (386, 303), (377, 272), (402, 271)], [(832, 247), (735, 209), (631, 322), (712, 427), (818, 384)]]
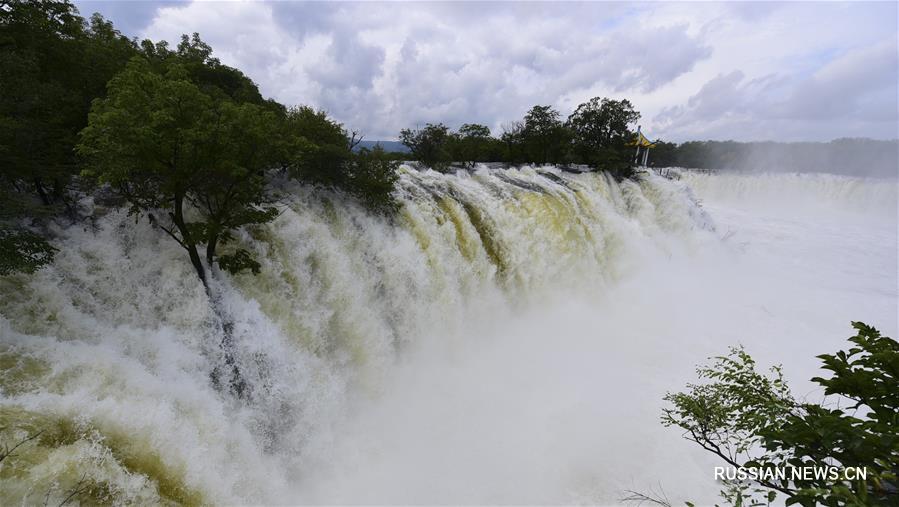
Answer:
[(836, 139), (827, 143), (658, 142), (649, 158), (656, 167), (895, 177), (899, 171), (899, 142), (873, 139)]

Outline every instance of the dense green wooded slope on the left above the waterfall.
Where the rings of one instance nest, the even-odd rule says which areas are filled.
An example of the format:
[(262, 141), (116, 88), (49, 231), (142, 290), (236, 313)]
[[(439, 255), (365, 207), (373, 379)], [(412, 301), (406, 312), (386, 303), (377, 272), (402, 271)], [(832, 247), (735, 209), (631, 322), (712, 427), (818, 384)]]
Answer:
[(171, 49), (69, 1), (5, 1), (0, 63), (0, 275), (51, 262), (47, 223), (80, 219), (96, 185), (183, 247), (204, 284), (213, 264), (259, 270), (247, 250), (218, 248), (276, 216), (275, 173), (396, 209), (393, 157), (354, 153), (358, 133), (324, 112), (264, 99), (197, 34)]

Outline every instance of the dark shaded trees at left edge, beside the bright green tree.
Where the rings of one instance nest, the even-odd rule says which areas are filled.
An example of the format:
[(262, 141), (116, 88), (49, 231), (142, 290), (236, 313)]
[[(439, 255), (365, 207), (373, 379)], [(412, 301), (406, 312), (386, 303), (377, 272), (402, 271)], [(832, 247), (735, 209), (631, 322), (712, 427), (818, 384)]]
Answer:
[(73, 149), (91, 101), (136, 52), (95, 14), (68, 1), (0, 2), (0, 273), (30, 273), (55, 249), (43, 233), (74, 215)]

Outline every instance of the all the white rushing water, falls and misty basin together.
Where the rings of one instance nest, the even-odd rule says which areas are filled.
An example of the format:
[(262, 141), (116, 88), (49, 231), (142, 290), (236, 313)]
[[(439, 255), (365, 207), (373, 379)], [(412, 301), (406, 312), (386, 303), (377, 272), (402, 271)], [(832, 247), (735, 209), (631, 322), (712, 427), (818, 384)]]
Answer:
[[(743, 343), (800, 396), (864, 320), (895, 335), (895, 180), (403, 168), (392, 221), (291, 189), (216, 273), (248, 383), (174, 242), (97, 208), (0, 278), (4, 504), (714, 500), (661, 397)], [(85, 206), (92, 203), (85, 202)]]

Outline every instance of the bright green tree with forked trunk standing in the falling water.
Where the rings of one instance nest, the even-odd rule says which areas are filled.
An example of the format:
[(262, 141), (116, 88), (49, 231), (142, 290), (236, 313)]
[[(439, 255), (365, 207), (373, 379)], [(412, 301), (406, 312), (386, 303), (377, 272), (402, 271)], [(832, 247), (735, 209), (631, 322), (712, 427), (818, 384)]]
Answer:
[(94, 102), (78, 146), (85, 174), (110, 184), (131, 212), (146, 214), (184, 248), (204, 285), (201, 245), (210, 265), (218, 260), (231, 272), (256, 272), (246, 250), (218, 258), (216, 250), (234, 230), (275, 216), (264, 171), (277, 159), (269, 142), (277, 116), (204, 93), (177, 61), (163, 68), (135, 57), (110, 81), (109, 96)]

